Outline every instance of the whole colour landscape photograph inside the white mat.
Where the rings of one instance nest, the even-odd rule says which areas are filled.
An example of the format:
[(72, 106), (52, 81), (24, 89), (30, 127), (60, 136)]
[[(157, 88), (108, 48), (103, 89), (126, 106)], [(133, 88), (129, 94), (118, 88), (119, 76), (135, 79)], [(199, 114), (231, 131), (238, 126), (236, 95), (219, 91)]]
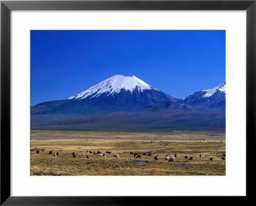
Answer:
[(30, 74), (31, 176), (226, 175), (225, 30), (31, 30)]

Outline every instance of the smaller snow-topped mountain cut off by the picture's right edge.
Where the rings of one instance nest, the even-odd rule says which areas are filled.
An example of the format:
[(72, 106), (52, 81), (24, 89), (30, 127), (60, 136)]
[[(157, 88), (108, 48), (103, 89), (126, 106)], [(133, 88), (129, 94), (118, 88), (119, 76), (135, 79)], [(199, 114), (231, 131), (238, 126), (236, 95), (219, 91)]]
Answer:
[(182, 98), (188, 105), (204, 105), (204, 107), (222, 107), (226, 102), (226, 83), (218, 85), (213, 89), (195, 92)]

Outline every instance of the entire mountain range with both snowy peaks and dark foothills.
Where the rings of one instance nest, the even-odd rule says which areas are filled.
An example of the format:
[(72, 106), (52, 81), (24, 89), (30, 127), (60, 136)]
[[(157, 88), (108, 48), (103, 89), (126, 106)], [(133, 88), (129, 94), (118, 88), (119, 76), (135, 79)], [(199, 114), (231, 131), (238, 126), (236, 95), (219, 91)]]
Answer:
[(226, 84), (176, 99), (135, 76), (115, 75), (67, 99), (31, 107), (31, 127), (225, 126)]

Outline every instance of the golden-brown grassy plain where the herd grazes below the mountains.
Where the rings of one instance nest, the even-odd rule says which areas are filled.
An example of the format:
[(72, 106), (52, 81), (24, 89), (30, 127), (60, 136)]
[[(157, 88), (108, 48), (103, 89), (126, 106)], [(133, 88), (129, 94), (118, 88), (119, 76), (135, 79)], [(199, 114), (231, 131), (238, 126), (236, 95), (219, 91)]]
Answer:
[[(31, 151), (31, 175), (225, 175), (221, 160), (225, 133), (221, 131), (31, 130), (31, 149), (40, 151)], [(111, 154), (99, 158), (86, 151)], [(59, 155), (54, 158), (56, 152)], [(135, 159), (130, 152), (156, 153)], [(157, 154), (158, 161), (154, 159)], [(164, 161), (166, 155), (172, 158), (175, 154), (175, 162)]]

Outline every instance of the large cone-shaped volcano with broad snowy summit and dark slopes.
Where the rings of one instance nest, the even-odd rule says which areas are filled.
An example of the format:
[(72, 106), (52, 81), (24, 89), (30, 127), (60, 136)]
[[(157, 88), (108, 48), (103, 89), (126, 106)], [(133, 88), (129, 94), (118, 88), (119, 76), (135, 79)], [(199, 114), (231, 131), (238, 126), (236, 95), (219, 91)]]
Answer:
[(135, 76), (115, 75), (70, 98), (35, 105), (31, 114), (130, 112), (166, 101), (175, 102), (177, 99)]

